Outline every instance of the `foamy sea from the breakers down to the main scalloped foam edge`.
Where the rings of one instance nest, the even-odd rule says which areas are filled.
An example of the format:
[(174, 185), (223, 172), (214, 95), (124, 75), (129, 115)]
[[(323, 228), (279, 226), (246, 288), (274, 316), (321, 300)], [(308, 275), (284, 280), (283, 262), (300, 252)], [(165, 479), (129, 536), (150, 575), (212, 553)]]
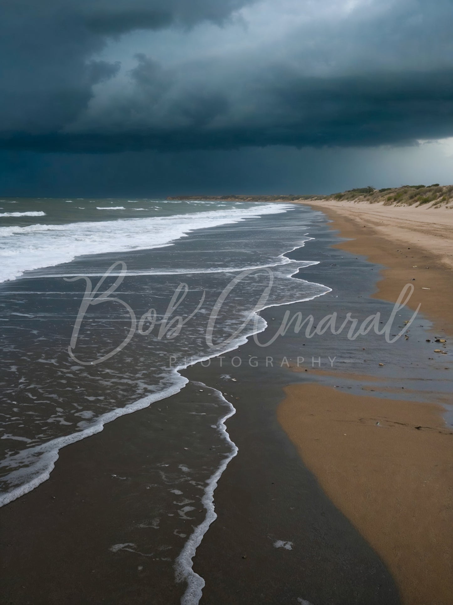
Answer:
[[(66, 201), (27, 200), (15, 206), (21, 206), (20, 214), (33, 203), (44, 208), (47, 225), (36, 222), (42, 217), (28, 225), (18, 224), (25, 217), (16, 217), (15, 225), (0, 227), (5, 273), (14, 272), (18, 259), (31, 269), (62, 261), (65, 254), (88, 253), (28, 270), (1, 286), (3, 502), (45, 480), (61, 446), (183, 388), (186, 379), (178, 367), (235, 348), (246, 335), (264, 329), (266, 322), (253, 313), (256, 305), (261, 309), (328, 292), (322, 284), (293, 279), (310, 261), (285, 255), (309, 239), (303, 234), (317, 213), (307, 209), (148, 201), (148, 216), (137, 220), (130, 207), (142, 208), (145, 201), (104, 200), (92, 201), (89, 212), (83, 211), (90, 220), (64, 223)], [(188, 211), (181, 213), (181, 205)], [(91, 220), (108, 207), (105, 220)], [(126, 218), (112, 220), (115, 212)], [(71, 220), (73, 215), (71, 210)], [(96, 247), (106, 251), (93, 254)], [(120, 252), (114, 252), (116, 247)], [(27, 265), (27, 250), (37, 258), (34, 264)], [(207, 342), (210, 314), (229, 284)], [(88, 286), (90, 291), (99, 287), (94, 296), (99, 304), (86, 308), (69, 355)], [(109, 287), (117, 301), (100, 300)], [(136, 324), (142, 333), (135, 331), (111, 355)], [(200, 440), (200, 447), (205, 445)]]

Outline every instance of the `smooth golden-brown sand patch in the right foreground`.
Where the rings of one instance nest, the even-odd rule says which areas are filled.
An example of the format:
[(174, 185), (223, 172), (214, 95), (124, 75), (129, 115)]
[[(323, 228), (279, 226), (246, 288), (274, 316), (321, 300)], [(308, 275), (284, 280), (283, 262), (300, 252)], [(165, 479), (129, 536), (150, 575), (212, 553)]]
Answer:
[(285, 393), (279, 422), (386, 563), (403, 603), (451, 603), (453, 433), (442, 408), (314, 384)]

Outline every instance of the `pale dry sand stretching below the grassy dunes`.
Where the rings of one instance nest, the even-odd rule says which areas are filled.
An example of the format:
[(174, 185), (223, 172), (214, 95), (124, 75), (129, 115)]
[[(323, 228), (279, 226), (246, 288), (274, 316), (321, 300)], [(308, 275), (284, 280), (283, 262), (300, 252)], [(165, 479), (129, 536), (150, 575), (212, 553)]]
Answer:
[(408, 307), (421, 303), (420, 312), (435, 329), (453, 336), (453, 209), (331, 201), (310, 201), (310, 206), (325, 212), (342, 237), (351, 238), (336, 247), (386, 267), (375, 298), (395, 302), (411, 283), (415, 290)]

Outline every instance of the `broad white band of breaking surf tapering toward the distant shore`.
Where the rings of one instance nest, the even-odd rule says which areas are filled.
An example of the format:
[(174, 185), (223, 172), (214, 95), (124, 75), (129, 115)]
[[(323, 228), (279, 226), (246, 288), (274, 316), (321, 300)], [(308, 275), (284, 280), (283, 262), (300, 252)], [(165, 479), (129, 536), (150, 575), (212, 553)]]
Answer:
[[(68, 263), (80, 255), (169, 246), (196, 229), (286, 212), (287, 204), (67, 224), (0, 227), (0, 281), (25, 271)], [(43, 213), (44, 214), (44, 213)]]

